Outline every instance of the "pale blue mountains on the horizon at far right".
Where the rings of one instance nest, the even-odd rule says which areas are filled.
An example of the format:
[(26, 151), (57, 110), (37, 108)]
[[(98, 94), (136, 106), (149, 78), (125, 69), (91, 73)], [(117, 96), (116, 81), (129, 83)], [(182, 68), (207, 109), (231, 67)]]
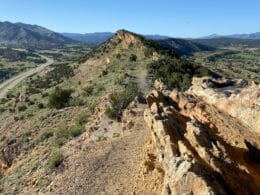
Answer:
[(216, 39), (216, 38), (260, 39), (260, 32), (251, 33), (251, 34), (233, 34), (233, 35), (212, 34), (209, 36), (201, 37), (201, 39)]

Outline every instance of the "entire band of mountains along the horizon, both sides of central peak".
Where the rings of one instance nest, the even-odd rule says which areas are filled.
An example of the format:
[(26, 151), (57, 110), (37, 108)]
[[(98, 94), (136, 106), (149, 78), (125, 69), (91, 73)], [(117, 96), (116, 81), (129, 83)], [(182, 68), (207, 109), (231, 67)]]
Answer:
[[(0, 45), (28, 48), (62, 46), (68, 43), (84, 43), (90, 47), (107, 41), (115, 33), (56, 33), (47, 28), (24, 23), (0, 22)], [(196, 51), (212, 50), (222, 46), (260, 46), (260, 32), (222, 36), (213, 34), (200, 39), (176, 39), (162, 35), (143, 35), (158, 41), (167, 48), (174, 48), (176, 54), (190, 55)]]

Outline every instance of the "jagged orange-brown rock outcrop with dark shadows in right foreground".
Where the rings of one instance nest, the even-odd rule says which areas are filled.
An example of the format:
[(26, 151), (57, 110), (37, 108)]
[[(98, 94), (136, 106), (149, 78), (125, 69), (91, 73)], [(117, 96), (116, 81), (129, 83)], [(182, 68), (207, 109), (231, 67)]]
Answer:
[(147, 102), (164, 194), (259, 193), (260, 139), (253, 128), (191, 93), (152, 91)]

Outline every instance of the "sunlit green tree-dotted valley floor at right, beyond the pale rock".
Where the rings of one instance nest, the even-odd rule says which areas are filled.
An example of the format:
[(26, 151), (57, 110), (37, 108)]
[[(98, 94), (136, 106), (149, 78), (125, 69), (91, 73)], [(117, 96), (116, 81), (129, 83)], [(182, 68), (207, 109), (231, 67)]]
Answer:
[(226, 77), (260, 83), (260, 46), (220, 47), (212, 52), (197, 52), (196, 63)]

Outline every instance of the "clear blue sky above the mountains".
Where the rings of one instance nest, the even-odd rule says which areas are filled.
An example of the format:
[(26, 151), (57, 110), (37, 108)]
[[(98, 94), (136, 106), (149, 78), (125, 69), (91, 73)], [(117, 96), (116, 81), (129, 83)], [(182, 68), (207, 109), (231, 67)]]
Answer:
[(199, 37), (260, 31), (260, 0), (1, 0), (0, 21), (56, 32)]

